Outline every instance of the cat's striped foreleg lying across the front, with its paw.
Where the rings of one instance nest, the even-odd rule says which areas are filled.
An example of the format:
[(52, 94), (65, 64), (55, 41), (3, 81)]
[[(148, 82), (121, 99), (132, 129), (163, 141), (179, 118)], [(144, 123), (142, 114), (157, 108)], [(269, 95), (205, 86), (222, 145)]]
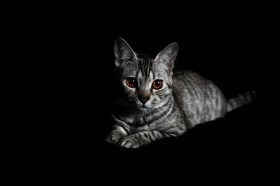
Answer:
[(120, 141), (118, 141), (118, 144), (125, 148), (139, 148), (139, 146), (150, 144), (151, 142), (162, 139), (163, 137), (165, 137), (165, 134), (158, 130), (143, 131), (123, 137)]

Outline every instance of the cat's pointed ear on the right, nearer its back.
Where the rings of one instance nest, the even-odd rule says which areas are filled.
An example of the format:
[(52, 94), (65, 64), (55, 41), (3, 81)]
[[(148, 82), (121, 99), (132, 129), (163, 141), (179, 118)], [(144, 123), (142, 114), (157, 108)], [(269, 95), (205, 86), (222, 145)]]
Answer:
[(155, 61), (163, 63), (169, 71), (174, 68), (176, 56), (178, 54), (179, 45), (177, 42), (172, 42), (170, 45), (162, 49), (155, 57)]

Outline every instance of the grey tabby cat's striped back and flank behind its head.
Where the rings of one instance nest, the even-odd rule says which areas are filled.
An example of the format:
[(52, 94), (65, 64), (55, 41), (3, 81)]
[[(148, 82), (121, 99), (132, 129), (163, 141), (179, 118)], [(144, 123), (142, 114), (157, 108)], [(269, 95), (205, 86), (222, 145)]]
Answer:
[(174, 70), (174, 100), (192, 126), (223, 117), (226, 101), (210, 80), (190, 70)]

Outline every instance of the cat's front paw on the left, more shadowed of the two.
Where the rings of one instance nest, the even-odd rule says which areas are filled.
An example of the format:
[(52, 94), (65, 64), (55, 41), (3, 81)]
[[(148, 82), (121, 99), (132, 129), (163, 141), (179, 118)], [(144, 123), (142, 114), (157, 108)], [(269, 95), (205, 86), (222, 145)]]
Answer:
[(111, 144), (116, 144), (122, 137), (129, 135), (129, 133), (130, 130), (128, 127), (123, 125), (113, 125), (113, 130), (106, 138), (106, 141), (110, 142)]

